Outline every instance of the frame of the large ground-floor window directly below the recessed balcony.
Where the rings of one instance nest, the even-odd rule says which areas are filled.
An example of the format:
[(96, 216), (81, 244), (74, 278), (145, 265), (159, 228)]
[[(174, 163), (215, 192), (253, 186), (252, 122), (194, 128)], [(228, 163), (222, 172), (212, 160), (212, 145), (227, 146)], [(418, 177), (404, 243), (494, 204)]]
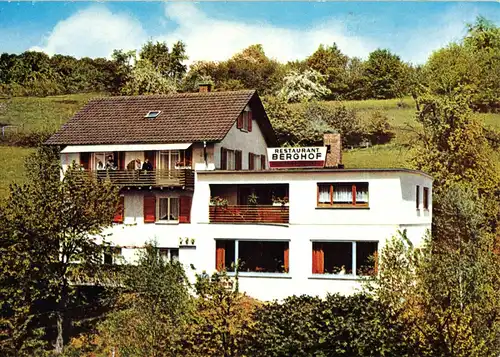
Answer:
[[(287, 239), (238, 239), (238, 238), (215, 238), (215, 269), (221, 271), (218, 266), (218, 256), (217, 256), (217, 242), (234, 242), (234, 263), (239, 261), (239, 244), (240, 242), (254, 242), (254, 243), (286, 243), (286, 249), (283, 251), (284, 260), (284, 272), (259, 272), (259, 271), (238, 271), (238, 275), (241, 276), (269, 276), (269, 277), (290, 277), (290, 240)], [(227, 269), (224, 266), (223, 269)], [(226, 270), (228, 275), (235, 275), (234, 271)]]

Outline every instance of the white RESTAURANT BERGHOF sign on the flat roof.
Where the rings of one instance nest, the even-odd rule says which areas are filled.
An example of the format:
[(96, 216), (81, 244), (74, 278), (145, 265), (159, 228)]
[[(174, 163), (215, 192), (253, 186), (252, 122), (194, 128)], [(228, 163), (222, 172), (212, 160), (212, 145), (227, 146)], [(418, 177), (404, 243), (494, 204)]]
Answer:
[(324, 167), (326, 147), (268, 148), (270, 168)]

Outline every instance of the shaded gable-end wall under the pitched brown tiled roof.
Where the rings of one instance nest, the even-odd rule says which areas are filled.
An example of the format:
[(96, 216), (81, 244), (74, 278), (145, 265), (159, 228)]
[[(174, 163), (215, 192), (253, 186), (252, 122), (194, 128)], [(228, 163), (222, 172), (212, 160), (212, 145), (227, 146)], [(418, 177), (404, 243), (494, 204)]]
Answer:
[(242, 168), (248, 169), (248, 153), (267, 156), (267, 143), (262, 135), (259, 125), (255, 119), (252, 119), (252, 131), (246, 132), (237, 129), (235, 122), (227, 133), (226, 137), (214, 146), (215, 166), (220, 167), (220, 148), (242, 151)]

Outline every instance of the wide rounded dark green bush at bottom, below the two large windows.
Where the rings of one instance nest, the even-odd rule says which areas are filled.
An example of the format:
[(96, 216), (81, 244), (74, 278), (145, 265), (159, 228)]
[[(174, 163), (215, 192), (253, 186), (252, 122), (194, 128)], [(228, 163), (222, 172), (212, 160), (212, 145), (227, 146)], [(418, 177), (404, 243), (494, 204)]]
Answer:
[(255, 313), (249, 356), (404, 356), (403, 325), (364, 295), (292, 296)]

